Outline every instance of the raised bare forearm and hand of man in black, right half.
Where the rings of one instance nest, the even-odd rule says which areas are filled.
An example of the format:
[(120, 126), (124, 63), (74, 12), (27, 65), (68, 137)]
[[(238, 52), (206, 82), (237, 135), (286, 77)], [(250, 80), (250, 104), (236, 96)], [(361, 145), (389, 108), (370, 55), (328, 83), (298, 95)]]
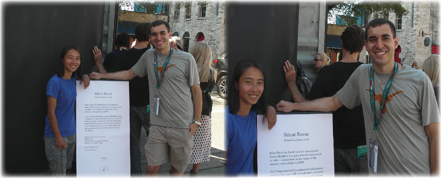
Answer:
[(285, 66), (283, 66), (283, 70), (285, 72), (285, 80), (288, 84), (289, 91), (291, 91), (292, 99), (294, 99), (294, 102), (304, 102), (306, 101), (305, 98), (303, 98), (302, 94), (300, 94), (299, 89), (297, 89), (297, 86), (295, 85), (295, 69), (294, 65), (289, 63), (288, 60), (285, 62)]

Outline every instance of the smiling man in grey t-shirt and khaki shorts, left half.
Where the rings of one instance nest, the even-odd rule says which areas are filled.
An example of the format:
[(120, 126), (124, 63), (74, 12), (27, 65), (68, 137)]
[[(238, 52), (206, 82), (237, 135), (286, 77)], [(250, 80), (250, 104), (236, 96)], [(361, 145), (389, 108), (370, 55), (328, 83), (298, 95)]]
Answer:
[[(149, 76), (150, 123), (145, 146), (147, 175), (158, 175), (168, 158), (172, 175), (183, 176), (190, 163), (192, 136), (200, 125), (202, 91), (196, 62), (190, 53), (171, 49), (172, 32), (162, 20), (150, 24), (150, 42), (155, 49), (144, 53), (130, 70), (100, 74), (92, 79), (129, 80)], [(155, 66), (156, 61), (156, 66)]]

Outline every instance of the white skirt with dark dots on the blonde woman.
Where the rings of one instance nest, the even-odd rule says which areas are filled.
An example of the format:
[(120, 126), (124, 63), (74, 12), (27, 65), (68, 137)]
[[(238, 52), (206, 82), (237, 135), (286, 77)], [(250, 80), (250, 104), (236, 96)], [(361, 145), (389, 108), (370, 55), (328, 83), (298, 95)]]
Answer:
[(210, 160), (211, 155), (211, 115), (201, 116), (201, 125), (193, 135), (193, 148), (190, 164), (198, 164)]

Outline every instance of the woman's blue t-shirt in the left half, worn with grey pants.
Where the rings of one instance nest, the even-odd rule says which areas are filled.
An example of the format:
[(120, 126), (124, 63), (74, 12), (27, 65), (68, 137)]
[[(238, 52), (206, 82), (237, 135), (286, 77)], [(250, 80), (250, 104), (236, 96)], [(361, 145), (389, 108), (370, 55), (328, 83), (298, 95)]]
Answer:
[[(51, 95), (56, 98), (55, 116), (58, 122), (58, 129), (62, 137), (71, 136), (76, 133), (75, 125), (75, 98), (77, 89), (75, 78), (69, 80), (63, 77), (53, 76), (46, 87), (46, 97)], [(49, 117), (46, 116), (45, 137), (54, 137)]]

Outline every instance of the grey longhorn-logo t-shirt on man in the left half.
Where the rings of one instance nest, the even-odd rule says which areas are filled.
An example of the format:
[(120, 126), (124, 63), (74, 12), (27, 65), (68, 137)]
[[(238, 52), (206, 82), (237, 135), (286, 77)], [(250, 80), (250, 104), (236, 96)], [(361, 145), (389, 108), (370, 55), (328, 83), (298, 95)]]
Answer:
[[(137, 76), (149, 76), (150, 109), (156, 95), (157, 80), (154, 70), (155, 49), (148, 49), (132, 69)], [(158, 76), (169, 54), (157, 54)], [(150, 113), (150, 123), (165, 127), (187, 128), (194, 120), (190, 87), (199, 84), (196, 61), (190, 53), (173, 49), (159, 87), (158, 115)]]

